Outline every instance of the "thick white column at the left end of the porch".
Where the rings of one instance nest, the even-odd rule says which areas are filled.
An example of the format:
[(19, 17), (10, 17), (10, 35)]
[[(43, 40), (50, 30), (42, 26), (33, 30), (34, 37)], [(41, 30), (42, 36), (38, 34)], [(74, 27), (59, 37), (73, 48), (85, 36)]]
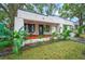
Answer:
[(20, 28), (22, 30), (24, 30), (24, 20), (19, 17), (15, 17), (14, 30), (18, 31)]

